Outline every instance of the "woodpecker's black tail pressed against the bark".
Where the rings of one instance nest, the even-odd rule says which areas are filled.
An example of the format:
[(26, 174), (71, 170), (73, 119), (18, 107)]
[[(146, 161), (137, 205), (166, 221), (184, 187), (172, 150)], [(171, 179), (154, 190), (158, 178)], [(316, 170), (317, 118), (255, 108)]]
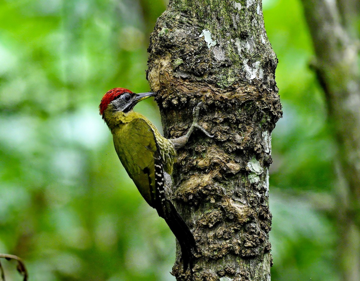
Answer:
[(165, 205), (166, 211), (164, 219), (170, 227), (172, 233), (174, 233), (177, 241), (179, 241), (184, 272), (188, 267), (190, 267), (191, 271), (195, 259), (194, 253), (197, 253), (194, 236), (189, 227), (186, 225), (184, 219), (181, 217), (179, 212), (177, 212), (174, 204), (172, 204), (171, 201), (166, 200)]

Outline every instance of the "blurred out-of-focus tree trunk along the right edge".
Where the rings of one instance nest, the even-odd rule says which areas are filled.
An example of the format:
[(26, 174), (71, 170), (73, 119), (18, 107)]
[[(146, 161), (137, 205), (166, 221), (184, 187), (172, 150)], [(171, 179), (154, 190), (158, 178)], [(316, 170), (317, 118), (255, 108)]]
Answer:
[[(302, 0), (316, 54), (314, 68), (326, 95), (338, 145), (337, 263), (342, 280), (360, 280), (360, 73), (358, 0)], [(354, 14), (357, 14), (357, 17)], [(357, 32), (356, 32), (357, 30)], [(356, 36), (356, 37), (355, 37)]]

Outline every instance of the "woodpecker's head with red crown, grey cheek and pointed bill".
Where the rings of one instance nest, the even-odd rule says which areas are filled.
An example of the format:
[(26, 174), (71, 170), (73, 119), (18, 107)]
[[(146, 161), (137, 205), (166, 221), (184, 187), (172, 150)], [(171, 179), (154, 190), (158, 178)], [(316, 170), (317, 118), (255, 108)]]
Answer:
[(104, 112), (109, 106), (111, 107), (112, 111), (122, 111), (127, 113), (134, 108), (136, 103), (153, 95), (155, 95), (155, 93), (147, 92), (135, 94), (124, 88), (111, 89), (105, 93), (100, 102), (100, 115), (102, 115), (104, 119)]

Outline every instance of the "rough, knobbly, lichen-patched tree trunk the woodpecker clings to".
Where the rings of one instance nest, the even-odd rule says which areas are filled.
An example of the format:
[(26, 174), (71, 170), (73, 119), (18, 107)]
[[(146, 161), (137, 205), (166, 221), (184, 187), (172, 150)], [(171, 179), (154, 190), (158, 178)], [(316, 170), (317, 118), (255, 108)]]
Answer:
[[(246, 2), (246, 3), (245, 3)], [(270, 280), (271, 132), (281, 106), (261, 0), (170, 0), (150, 38), (148, 80), (165, 135), (179, 137), (204, 102), (200, 131), (178, 151), (174, 201), (199, 247), (177, 280)]]

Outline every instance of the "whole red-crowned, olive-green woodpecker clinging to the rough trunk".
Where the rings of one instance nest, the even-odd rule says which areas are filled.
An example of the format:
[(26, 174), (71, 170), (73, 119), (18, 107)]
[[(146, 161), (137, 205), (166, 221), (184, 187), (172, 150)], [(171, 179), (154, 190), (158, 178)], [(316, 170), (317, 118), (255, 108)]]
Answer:
[(176, 150), (185, 146), (195, 129), (202, 130), (208, 137), (213, 135), (198, 124), (200, 102), (194, 107), (188, 133), (175, 139), (163, 137), (145, 116), (133, 111), (136, 103), (153, 95), (153, 92), (136, 94), (114, 88), (103, 96), (99, 111), (113, 135), (116, 153), (127, 174), (179, 241), (185, 271), (192, 266), (197, 247), (192, 232), (172, 203), (171, 174)]

